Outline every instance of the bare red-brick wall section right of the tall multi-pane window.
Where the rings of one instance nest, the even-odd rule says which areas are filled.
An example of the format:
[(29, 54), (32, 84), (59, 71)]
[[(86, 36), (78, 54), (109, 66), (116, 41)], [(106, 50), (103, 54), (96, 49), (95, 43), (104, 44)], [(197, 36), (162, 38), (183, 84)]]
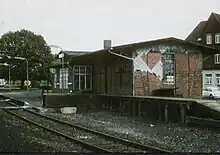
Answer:
[(202, 95), (202, 53), (178, 52), (176, 54), (177, 92), (184, 97), (199, 98)]

